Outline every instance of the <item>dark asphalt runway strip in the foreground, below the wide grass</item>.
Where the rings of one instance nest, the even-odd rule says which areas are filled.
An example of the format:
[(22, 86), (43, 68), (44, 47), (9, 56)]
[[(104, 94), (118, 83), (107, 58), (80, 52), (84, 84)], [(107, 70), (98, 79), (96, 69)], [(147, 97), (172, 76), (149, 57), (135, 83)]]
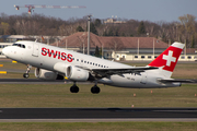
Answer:
[(197, 108), (0, 108), (0, 121), (197, 121)]

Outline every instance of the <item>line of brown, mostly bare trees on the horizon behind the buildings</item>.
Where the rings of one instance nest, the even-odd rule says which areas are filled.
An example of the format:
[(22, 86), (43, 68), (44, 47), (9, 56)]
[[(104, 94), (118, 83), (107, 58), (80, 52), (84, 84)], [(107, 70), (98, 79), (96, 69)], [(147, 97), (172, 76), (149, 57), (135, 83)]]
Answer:
[[(185, 14), (173, 22), (150, 22), (124, 20), (125, 23), (108, 23), (104, 20), (92, 19), (91, 32), (99, 36), (116, 37), (157, 37), (165, 43), (186, 43), (187, 47), (197, 47), (196, 16)], [(28, 16), (0, 14), (0, 35), (46, 35), (69, 36), (77, 32), (88, 31), (88, 17), (71, 17), (69, 20), (45, 16), (34, 13)]]

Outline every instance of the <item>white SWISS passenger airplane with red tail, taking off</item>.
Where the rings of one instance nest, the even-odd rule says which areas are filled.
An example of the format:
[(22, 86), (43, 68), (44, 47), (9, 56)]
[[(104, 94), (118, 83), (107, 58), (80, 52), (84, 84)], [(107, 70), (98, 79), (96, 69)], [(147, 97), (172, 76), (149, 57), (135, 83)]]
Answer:
[(21, 40), (3, 48), (2, 52), (12, 60), (27, 64), (24, 78), (28, 78), (32, 67), (35, 76), (42, 80), (63, 80), (73, 82), (71, 93), (78, 93), (77, 82), (93, 82), (93, 94), (101, 92), (97, 83), (127, 88), (161, 88), (181, 86), (184, 80), (171, 79), (184, 44), (174, 43), (146, 67), (124, 63), (83, 55), (72, 50)]

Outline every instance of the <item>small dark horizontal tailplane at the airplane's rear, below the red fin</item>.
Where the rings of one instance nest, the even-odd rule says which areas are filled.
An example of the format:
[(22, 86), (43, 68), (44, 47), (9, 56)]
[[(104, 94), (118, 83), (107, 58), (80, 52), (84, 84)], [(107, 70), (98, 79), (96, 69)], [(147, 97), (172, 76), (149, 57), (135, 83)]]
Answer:
[(162, 82), (162, 83), (175, 83), (175, 82), (179, 82), (179, 83), (197, 83), (197, 80), (182, 80), (182, 79), (158, 80), (158, 81)]

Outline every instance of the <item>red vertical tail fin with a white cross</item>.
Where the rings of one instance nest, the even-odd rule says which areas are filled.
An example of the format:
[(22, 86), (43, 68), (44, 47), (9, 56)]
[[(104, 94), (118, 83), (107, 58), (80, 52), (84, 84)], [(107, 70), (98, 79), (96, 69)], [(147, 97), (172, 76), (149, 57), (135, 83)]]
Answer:
[(163, 70), (173, 72), (184, 46), (184, 44), (174, 43), (157, 59), (149, 63), (149, 66), (158, 68), (163, 67)]

